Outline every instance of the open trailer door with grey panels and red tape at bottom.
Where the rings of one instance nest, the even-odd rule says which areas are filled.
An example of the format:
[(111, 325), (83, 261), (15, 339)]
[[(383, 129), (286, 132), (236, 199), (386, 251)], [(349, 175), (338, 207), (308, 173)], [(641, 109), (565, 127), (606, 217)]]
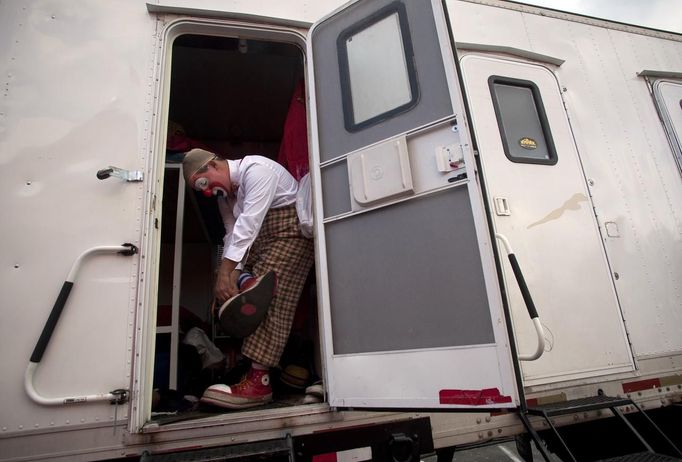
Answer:
[(330, 404), (516, 406), (442, 3), (352, 3), (308, 56)]

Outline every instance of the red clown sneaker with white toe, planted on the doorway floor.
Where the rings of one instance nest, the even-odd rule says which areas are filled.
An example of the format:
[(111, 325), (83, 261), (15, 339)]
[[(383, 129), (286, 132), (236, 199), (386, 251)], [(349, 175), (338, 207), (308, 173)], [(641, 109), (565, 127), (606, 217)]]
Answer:
[(249, 369), (241, 382), (236, 385), (211, 385), (201, 397), (201, 402), (227, 409), (244, 409), (261, 406), (272, 401), (270, 373)]

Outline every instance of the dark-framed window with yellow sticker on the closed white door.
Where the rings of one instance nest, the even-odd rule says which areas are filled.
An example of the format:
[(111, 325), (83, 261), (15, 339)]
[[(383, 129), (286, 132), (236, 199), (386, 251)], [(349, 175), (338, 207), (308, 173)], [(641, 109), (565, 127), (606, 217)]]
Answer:
[(488, 81), (504, 153), (512, 162), (557, 163), (538, 87), (531, 81), (492, 76)]

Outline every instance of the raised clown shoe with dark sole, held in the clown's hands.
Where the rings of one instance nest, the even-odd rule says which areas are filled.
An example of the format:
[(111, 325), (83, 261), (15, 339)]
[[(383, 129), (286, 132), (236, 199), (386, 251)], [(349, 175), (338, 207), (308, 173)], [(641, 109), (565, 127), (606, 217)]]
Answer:
[(225, 334), (243, 338), (251, 335), (263, 321), (275, 295), (277, 276), (268, 271), (252, 278), (240, 293), (223, 303), (218, 311), (220, 326)]

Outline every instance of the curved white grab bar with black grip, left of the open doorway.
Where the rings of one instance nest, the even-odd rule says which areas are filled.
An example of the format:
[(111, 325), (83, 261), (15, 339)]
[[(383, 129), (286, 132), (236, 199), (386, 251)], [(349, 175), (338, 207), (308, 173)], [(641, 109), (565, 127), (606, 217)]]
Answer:
[(59, 295), (57, 296), (57, 300), (55, 301), (54, 306), (52, 307), (50, 316), (47, 318), (47, 321), (45, 322), (43, 331), (40, 334), (40, 338), (38, 338), (38, 343), (36, 343), (36, 346), (33, 349), (33, 354), (31, 355), (28, 367), (26, 368), (26, 372), (24, 373), (24, 389), (26, 390), (26, 394), (28, 394), (28, 396), (38, 404), (53, 406), (59, 404), (84, 403), (92, 401), (110, 401), (113, 404), (120, 404), (125, 402), (125, 400), (127, 399), (128, 392), (126, 390), (114, 390), (109, 393), (97, 393), (84, 396), (46, 398), (40, 395), (33, 386), (33, 376), (35, 374), (36, 369), (38, 368), (38, 363), (43, 358), (43, 354), (45, 353), (47, 344), (50, 342), (50, 338), (52, 338), (52, 333), (54, 332), (54, 328), (57, 326), (57, 321), (59, 321), (59, 317), (61, 316), (62, 311), (64, 310), (66, 300), (69, 298), (71, 288), (73, 287), (74, 280), (76, 279), (76, 275), (78, 274), (78, 270), (80, 269), (81, 263), (86, 257), (96, 253), (104, 254), (118, 253), (125, 256), (131, 256), (137, 253), (137, 247), (135, 247), (133, 244), (128, 243), (123, 245), (93, 247), (83, 252), (71, 266), (71, 271), (69, 271), (69, 274), (66, 277), (66, 281), (64, 281), (64, 284), (62, 285), (62, 289), (59, 292)]

